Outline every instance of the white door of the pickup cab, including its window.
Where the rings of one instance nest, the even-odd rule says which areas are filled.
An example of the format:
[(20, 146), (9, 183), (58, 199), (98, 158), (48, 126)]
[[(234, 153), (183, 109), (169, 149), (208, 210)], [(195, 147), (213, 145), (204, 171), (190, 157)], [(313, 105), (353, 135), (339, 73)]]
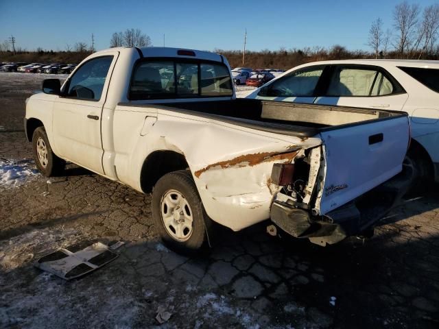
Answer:
[(102, 174), (102, 108), (117, 55), (109, 52), (81, 64), (54, 103), (52, 130), (56, 154)]

